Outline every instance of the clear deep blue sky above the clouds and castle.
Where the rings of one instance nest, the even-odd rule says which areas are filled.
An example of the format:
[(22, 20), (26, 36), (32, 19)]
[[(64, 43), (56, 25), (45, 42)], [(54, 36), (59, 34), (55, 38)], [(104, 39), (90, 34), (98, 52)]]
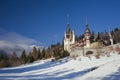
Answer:
[[(75, 34), (120, 28), (119, 0), (0, 0), (0, 29), (48, 46), (62, 42), (67, 15)], [(1, 36), (1, 35), (0, 35)]]

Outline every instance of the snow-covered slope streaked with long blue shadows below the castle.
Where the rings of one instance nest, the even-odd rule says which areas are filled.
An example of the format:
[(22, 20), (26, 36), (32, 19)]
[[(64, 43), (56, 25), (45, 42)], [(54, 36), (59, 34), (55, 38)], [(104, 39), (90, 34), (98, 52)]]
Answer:
[(18, 67), (0, 68), (0, 80), (120, 80), (120, 55), (110, 57), (41, 60)]

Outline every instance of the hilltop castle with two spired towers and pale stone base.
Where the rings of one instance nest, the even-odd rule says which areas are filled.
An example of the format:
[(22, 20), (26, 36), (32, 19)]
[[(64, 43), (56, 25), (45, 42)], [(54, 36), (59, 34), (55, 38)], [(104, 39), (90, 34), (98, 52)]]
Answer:
[[(111, 44), (113, 44), (111, 34), (107, 37), (110, 40)], [(103, 40), (102, 36), (99, 34), (97, 34), (93, 40), (94, 41), (91, 42), (91, 32), (88, 27), (87, 20), (83, 37), (79, 41), (75, 40), (75, 33), (73, 30), (70, 29), (70, 23), (68, 21), (67, 29), (64, 33), (64, 50), (67, 50), (68, 52), (70, 52), (70, 54), (74, 55), (86, 55), (88, 51), (92, 51), (96, 54), (98, 53), (98, 51), (101, 51), (101, 47), (104, 46), (103, 42), (106, 41), (104, 40), (103, 42), (99, 42), (99, 40)]]

